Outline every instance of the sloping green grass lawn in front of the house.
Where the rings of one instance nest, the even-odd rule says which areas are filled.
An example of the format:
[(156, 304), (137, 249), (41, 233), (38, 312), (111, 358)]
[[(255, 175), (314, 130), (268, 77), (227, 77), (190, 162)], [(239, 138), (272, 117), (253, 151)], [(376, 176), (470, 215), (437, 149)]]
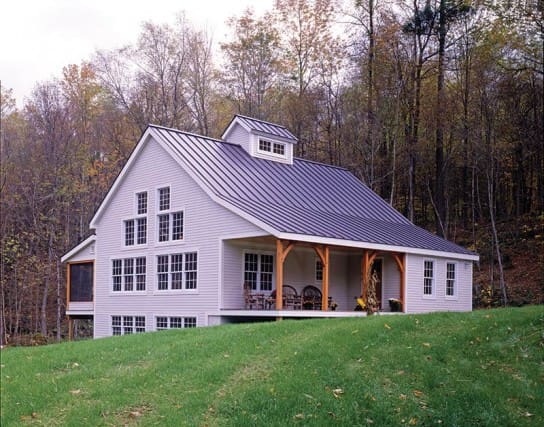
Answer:
[(542, 426), (544, 306), (1, 352), (1, 425)]

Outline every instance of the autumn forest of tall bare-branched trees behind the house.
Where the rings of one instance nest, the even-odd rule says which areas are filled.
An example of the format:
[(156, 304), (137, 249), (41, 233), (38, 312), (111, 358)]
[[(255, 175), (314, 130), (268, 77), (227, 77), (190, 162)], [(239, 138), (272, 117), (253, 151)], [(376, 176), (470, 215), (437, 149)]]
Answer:
[(542, 0), (275, 0), (215, 40), (180, 12), (20, 107), (1, 86), (0, 344), (64, 339), (60, 259), (149, 123), (220, 137), (234, 114), (285, 125), (298, 157), (478, 252), (475, 307), (544, 303), (543, 15)]

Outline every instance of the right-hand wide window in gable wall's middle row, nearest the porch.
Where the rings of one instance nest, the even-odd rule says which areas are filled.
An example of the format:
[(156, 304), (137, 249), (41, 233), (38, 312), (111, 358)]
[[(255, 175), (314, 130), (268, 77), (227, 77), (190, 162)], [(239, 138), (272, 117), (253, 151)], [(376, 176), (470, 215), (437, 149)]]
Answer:
[(157, 257), (157, 289), (159, 291), (196, 289), (197, 270), (196, 252), (159, 255)]

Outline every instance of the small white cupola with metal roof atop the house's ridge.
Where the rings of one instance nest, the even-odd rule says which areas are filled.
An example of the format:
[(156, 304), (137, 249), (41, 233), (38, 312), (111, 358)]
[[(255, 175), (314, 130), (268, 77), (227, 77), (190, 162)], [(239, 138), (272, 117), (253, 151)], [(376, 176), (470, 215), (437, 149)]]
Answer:
[(236, 115), (223, 132), (222, 139), (241, 145), (250, 156), (293, 164), (297, 138), (284, 126)]

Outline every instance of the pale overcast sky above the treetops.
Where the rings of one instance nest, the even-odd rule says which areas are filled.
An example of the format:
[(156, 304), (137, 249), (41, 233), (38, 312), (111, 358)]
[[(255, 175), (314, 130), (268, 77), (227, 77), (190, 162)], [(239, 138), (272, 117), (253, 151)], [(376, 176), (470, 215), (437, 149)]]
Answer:
[(34, 86), (62, 75), (98, 50), (134, 43), (144, 21), (173, 23), (177, 13), (226, 39), (225, 21), (249, 6), (257, 14), (273, 0), (1, 0), (0, 81), (20, 107)]

